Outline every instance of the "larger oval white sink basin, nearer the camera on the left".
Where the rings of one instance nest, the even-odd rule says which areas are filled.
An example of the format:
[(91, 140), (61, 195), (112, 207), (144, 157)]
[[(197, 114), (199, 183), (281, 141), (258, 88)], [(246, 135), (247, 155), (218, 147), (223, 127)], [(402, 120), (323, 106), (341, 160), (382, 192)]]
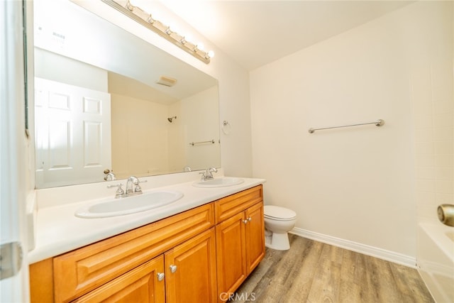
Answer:
[(103, 199), (77, 209), (75, 216), (80, 218), (123, 216), (164, 206), (182, 197), (182, 192), (162, 190), (119, 199)]

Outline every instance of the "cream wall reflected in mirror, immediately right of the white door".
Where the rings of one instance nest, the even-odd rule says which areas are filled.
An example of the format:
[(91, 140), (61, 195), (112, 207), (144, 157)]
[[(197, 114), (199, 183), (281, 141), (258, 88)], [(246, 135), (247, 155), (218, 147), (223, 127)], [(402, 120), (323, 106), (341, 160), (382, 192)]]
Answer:
[(164, 104), (111, 94), (111, 168), (118, 179), (169, 172), (168, 111)]

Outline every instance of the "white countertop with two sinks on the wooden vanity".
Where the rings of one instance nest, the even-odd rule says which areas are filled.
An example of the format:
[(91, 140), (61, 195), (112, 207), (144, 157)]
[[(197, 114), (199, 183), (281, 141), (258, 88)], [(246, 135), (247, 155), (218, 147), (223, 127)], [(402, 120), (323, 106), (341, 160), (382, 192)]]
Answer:
[(97, 219), (74, 216), (74, 212), (80, 206), (94, 200), (39, 209), (35, 226), (35, 248), (28, 252), (28, 263), (36, 263), (66, 253), (265, 182), (263, 179), (242, 179), (243, 183), (230, 187), (201, 188), (192, 186), (193, 182), (185, 182), (146, 189), (144, 192), (160, 189), (177, 190), (182, 192), (184, 197), (166, 206), (124, 216)]

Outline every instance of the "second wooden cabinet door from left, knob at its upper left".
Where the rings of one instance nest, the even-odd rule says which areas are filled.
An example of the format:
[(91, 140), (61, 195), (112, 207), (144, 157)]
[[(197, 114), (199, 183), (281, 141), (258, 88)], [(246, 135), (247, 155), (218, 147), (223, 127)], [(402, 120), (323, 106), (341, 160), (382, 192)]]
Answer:
[(216, 302), (214, 228), (165, 253), (167, 303)]

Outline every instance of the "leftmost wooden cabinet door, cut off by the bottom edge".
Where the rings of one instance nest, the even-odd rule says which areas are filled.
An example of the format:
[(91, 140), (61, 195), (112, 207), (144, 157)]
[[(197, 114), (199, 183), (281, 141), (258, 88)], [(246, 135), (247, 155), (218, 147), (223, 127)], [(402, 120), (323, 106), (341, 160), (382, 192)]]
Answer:
[(73, 302), (165, 302), (164, 256), (150, 260)]

